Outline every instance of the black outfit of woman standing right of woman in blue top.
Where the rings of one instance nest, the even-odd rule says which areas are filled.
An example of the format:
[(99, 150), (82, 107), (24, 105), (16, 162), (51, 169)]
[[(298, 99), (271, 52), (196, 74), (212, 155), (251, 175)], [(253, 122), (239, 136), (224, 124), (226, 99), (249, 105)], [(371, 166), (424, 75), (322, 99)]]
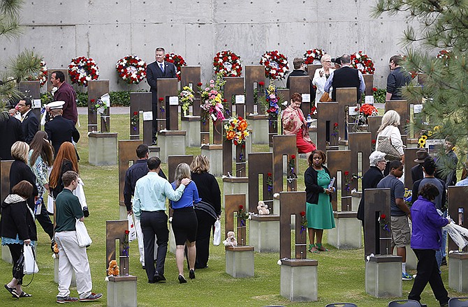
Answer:
[[(221, 215), (221, 190), (219, 190), (218, 181), (208, 173), (192, 173), (191, 179), (198, 188), (198, 196), (210, 205), (218, 216)], [(208, 265), (210, 257), (210, 236), (211, 230), (216, 221), (210, 214), (202, 210), (195, 210), (198, 220), (198, 230), (196, 236), (196, 260), (195, 268), (203, 269)]]

